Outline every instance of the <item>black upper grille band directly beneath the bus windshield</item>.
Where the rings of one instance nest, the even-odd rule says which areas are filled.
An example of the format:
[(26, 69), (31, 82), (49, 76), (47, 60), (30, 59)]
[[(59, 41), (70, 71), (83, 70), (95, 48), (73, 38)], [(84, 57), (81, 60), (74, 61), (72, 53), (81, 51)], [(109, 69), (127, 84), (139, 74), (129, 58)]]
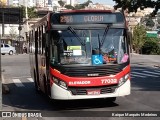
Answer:
[(71, 66), (71, 65), (53, 65), (52, 67), (61, 72), (61, 74), (69, 77), (103, 77), (109, 75), (116, 75), (121, 72), (129, 62), (115, 65), (102, 66)]

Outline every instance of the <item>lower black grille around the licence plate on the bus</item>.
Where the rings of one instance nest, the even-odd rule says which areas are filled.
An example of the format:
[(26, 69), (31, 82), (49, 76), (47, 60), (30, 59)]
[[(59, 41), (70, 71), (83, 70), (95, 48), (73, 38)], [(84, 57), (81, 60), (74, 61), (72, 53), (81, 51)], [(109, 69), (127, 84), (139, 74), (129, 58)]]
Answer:
[(114, 93), (116, 88), (117, 85), (92, 88), (69, 87), (68, 90), (70, 90), (73, 95), (87, 95), (88, 90), (100, 90), (100, 94), (106, 94)]

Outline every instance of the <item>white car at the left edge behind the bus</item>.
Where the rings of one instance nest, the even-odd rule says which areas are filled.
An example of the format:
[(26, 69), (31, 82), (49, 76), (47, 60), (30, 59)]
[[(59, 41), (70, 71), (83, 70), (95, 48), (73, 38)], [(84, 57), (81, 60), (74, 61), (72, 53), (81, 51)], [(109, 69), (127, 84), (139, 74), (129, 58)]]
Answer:
[(2, 55), (5, 55), (5, 54), (13, 55), (15, 53), (16, 53), (15, 47), (9, 44), (1, 44), (1, 54)]

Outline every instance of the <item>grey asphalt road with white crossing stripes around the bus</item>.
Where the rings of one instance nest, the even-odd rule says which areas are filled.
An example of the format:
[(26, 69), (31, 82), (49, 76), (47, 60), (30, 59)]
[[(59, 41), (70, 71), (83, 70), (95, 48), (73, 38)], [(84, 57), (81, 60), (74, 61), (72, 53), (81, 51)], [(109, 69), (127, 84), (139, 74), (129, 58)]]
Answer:
[[(43, 118), (27, 120), (66, 120), (66, 119), (106, 119), (110, 111), (160, 111), (160, 56), (131, 56), (131, 95), (119, 97), (114, 103), (105, 99), (74, 100), (53, 102), (42, 93), (34, 90), (30, 78), (29, 56), (2, 56), (3, 83), (9, 94), (3, 94), (3, 111), (40, 111)], [(19, 82), (17, 84), (17, 81)], [(68, 115), (68, 117), (66, 117)], [(8, 120), (9, 118), (3, 118)], [(17, 118), (12, 118), (18, 120)], [(22, 118), (19, 118), (22, 119)], [(24, 118), (23, 118), (24, 119)], [(109, 120), (131, 120), (134, 117), (107, 117)], [(136, 120), (158, 120), (157, 117), (136, 117)]]

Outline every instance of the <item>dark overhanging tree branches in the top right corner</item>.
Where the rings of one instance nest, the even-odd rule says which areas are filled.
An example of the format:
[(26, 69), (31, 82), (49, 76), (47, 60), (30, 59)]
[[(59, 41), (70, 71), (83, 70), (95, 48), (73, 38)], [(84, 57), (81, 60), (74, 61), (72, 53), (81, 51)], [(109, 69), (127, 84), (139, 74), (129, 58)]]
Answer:
[(129, 12), (137, 12), (137, 9), (141, 10), (147, 7), (154, 8), (155, 10), (152, 12), (152, 16), (157, 14), (158, 9), (160, 8), (160, 0), (113, 0), (116, 2), (114, 6), (115, 9), (122, 8), (125, 10), (128, 8)]

